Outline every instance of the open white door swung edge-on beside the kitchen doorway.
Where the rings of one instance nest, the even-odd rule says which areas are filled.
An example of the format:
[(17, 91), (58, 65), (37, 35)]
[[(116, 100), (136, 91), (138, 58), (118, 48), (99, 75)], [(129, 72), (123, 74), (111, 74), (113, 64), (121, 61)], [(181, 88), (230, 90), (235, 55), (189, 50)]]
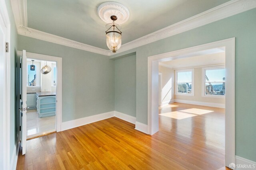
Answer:
[(27, 57), (26, 50), (22, 51), (21, 58), (21, 147), (22, 154), (26, 153), (27, 140)]

